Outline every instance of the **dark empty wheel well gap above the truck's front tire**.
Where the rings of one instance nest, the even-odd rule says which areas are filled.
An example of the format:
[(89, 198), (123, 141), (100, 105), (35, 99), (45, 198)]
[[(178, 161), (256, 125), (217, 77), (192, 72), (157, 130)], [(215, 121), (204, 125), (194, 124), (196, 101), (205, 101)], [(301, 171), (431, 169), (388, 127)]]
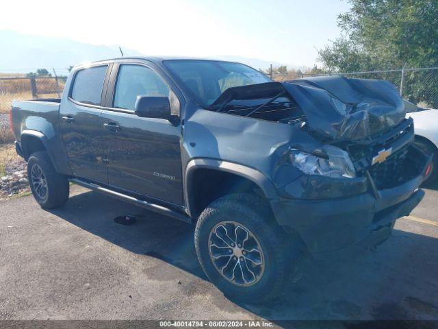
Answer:
[(190, 213), (197, 218), (210, 202), (231, 193), (255, 193), (265, 197), (255, 182), (235, 173), (215, 169), (196, 169), (190, 175)]

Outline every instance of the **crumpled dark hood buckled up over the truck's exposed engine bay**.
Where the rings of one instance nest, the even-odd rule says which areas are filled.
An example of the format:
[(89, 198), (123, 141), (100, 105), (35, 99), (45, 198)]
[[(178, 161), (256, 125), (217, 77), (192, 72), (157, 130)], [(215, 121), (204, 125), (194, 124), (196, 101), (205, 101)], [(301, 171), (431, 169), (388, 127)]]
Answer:
[(383, 80), (313, 77), (229, 88), (211, 110), (300, 125), (319, 141), (355, 141), (404, 120), (398, 91)]

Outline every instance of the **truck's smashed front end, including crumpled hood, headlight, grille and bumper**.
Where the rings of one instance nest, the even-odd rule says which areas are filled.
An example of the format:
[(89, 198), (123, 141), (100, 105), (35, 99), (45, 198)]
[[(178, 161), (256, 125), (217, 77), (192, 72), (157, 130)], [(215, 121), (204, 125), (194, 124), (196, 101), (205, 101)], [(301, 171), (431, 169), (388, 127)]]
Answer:
[(389, 82), (318, 77), (229, 88), (211, 110), (286, 123), (298, 138), (274, 165), (276, 220), (309, 252), (335, 252), (390, 235), (421, 201), (430, 158)]

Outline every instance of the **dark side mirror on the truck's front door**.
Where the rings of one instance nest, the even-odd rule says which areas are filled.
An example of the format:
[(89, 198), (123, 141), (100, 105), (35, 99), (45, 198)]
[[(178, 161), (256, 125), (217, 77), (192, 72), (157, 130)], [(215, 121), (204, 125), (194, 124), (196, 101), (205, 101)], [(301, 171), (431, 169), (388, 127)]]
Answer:
[(142, 118), (170, 119), (170, 101), (166, 96), (137, 96), (136, 114)]

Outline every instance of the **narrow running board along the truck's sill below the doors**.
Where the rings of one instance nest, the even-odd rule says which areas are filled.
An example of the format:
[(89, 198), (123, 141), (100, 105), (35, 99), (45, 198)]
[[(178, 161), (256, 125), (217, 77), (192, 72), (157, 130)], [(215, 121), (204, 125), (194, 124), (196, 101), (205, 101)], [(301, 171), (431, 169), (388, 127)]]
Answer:
[(168, 217), (172, 217), (175, 219), (179, 219), (180, 221), (185, 221), (185, 223), (193, 223), (192, 219), (188, 217), (188, 215), (184, 215), (181, 212), (177, 212), (175, 210), (166, 208), (164, 206), (159, 206), (158, 204), (153, 204), (151, 202), (147, 202), (145, 200), (137, 199), (136, 197), (131, 197), (131, 195), (126, 195), (123, 193), (118, 193), (116, 191), (112, 191), (108, 188), (102, 187), (100, 185), (94, 183), (83, 182), (82, 180), (78, 180), (77, 178), (71, 178), (70, 182), (75, 183), (77, 185), (90, 188), (93, 191), (98, 191), (110, 195), (111, 197), (116, 197), (118, 199), (123, 199), (130, 204), (134, 204), (136, 206), (140, 206), (142, 208), (152, 210), (154, 212), (158, 212), (159, 214), (166, 215)]

